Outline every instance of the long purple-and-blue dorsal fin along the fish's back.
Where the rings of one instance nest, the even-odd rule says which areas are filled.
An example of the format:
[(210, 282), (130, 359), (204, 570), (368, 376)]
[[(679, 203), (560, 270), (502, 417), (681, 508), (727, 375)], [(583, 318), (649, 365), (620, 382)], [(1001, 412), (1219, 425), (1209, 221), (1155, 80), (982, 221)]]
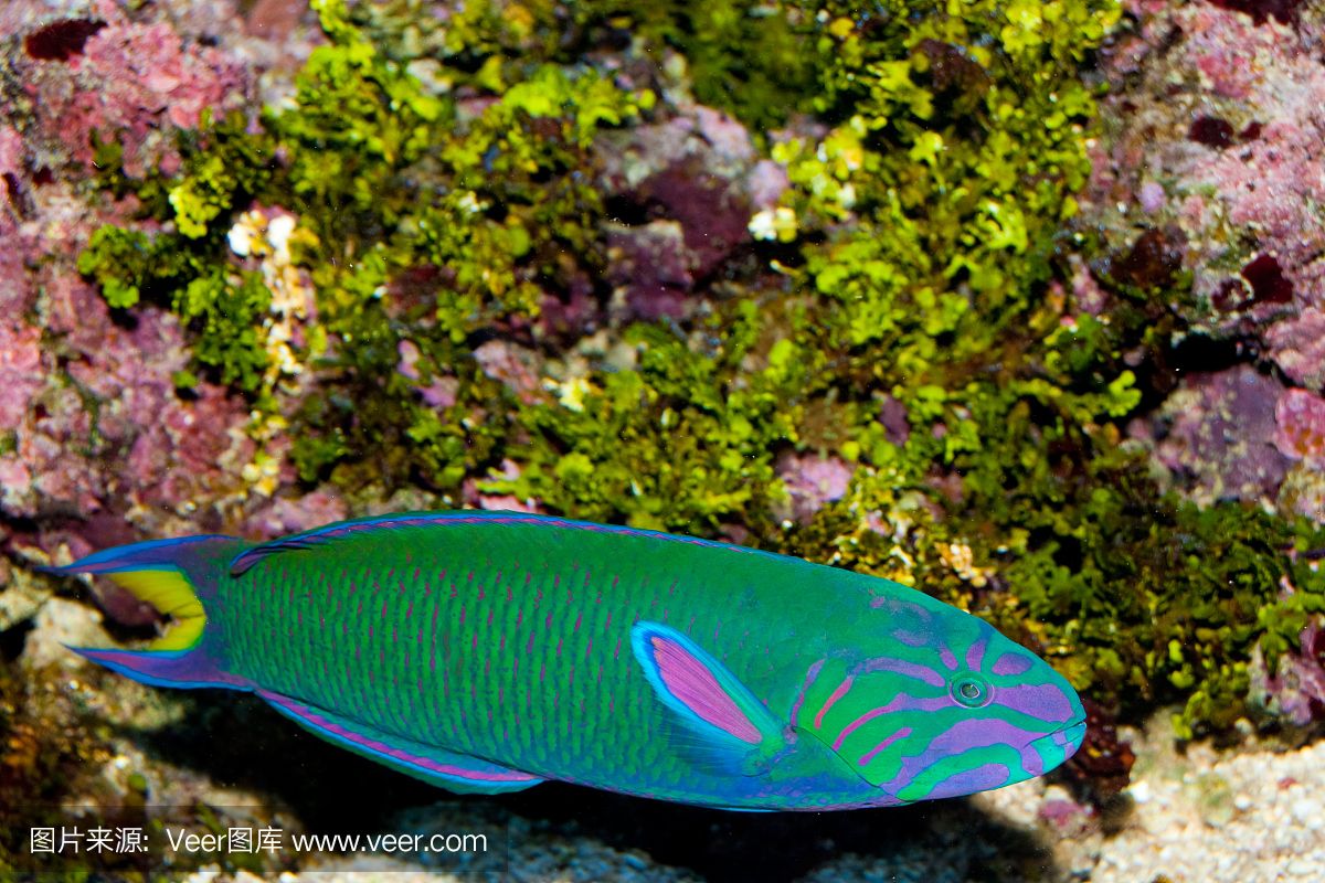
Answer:
[[(595, 524), (592, 522), (576, 522), (568, 518), (558, 518), (555, 515), (533, 515), (530, 512), (457, 510), (450, 512), (395, 512), (392, 515), (376, 515), (372, 518), (359, 518), (350, 522), (337, 522), (334, 524), (326, 524), (323, 527), (318, 527), (311, 531), (303, 531), (302, 534), (292, 534), (290, 536), (282, 536), (280, 539), (272, 540), (270, 543), (254, 545), (246, 552), (235, 556), (235, 560), (231, 561), (231, 576), (232, 577), (242, 576), (249, 568), (252, 568), (254, 564), (257, 564), (258, 561), (270, 555), (276, 555), (278, 552), (315, 548), (325, 543), (330, 543), (333, 540), (346, 536), (352, 536), (355, 534), (364, 534), (371, 531), (390, 531), (390, 530), (399, 530), (403, 527), (440, 527), (445, 524), (456, 524), (456, 526), (533, 524), (549, 528), (588, 531), (592, 534), (619, 534), (624, 536), (641, 536), (670, 543), (708, 545), (713, 548), (730, 549), (733, 552), (743, 552), (747, 555), (774, 555), (772, 552), (751, 549), (743, 545), (733, 545), (731, 543), (704, 540), (696, 536), (662, 534), (660, 531), (647, 531), (637, 527), (625, 527), (623, 524)], [(774, 557), (782, 557), (782, 556), (774, 556)], [(795, 560), (795, 559), (788, 559), (788, 560)]]

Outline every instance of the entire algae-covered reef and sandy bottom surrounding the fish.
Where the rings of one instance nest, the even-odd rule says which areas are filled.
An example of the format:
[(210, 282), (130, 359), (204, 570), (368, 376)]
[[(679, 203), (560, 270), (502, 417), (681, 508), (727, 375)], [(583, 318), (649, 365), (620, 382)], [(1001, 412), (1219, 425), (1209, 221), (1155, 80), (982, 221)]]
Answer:
[[(8, 0), (0, 880), (1322, 879), (1322, 40), (1295, 0)], [(855, 813), (456, 797), (83, 662), (158, 614), (36, 571), (460, 507), (913, 585), (1085, 744)], [(162, 846), (236, 829), (284, 846)]]

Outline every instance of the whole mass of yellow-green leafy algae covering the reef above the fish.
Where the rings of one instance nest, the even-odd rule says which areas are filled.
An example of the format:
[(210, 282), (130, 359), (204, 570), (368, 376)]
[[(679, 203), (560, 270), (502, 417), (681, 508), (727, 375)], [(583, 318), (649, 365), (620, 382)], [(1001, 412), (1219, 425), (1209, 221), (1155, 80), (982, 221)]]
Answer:
[[(1125, 715), (1182, 702), (1183, 736), (1247, 714), (1252, 646), (1285, 651), (1325, 608), (1289, 555), (1316, 531), (1185, 503), (1121, 441), (1136, 355), (1185, 330), (1186, 279), (1106, 278), (1102, 316), (1060, 285), (1094, 250), (1071, 230), (1097, 97), (1081, 71), (1116, 4), (587, 3), (567, 33), (539, 3), (444, 24), (409, 0), (315, 7), (329, 45), (294, 106), (256, 134), (212, 124), (142, 185), (166, 232), (107, 228), (80, 261), (111, 306), (166, 298), (200, 365), (274, 408), (268, 303), (225, 234), (254, 200), (294, 212), (318, 306), (297, 357), (321, 388), (293, 416), (302, 481), (453, 499), (476, 478), (582, 518), (742, 528), (966, 606)], [(537, 352), (543, 294), (604, 266), (590, 147), (655, 99), (579, 56), (621, 34), (685, 57), (694, 94), (750, 126), (823, 128), (757, 132), (791, 181), (792, 221), (757, 252), (775, 274), (743, 273), (689, 327), (612, 330), (629, 367), (521, 389), (473, 352)], [(792, 451), (856, 470), (808, 524), (778, 477)]]

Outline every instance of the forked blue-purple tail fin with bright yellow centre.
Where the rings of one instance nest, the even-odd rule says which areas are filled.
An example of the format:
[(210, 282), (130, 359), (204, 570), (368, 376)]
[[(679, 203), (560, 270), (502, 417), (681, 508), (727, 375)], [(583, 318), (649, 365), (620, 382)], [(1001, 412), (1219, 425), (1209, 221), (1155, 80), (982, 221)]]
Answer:
[(170, 687), (233, 686), (203, 647), (204, 601), (216, 596), (216, 579), (248, 547), (233, 536), (186, 536), (118, 545), (89, 555), (49, 573), (95, 573), (109, 577), (139, 601), (171, 618), (147, 650), (69, 647), (74, 653), (135, 680)]

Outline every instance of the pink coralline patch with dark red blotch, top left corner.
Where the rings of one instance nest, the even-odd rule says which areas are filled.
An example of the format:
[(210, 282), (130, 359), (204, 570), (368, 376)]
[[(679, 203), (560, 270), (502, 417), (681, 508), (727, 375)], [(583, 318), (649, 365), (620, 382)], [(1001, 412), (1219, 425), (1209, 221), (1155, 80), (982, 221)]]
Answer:
[(244, 106), (250, 78), (223, 50), (186, 42), (166, 23), (132, 24), (107, 3), (97, 13), (30, 30), (29, 52), (16, 58), (44, 140), (37, 159), (90, 169), (94, 136), (110, 136), (123, 147), (127, 175), (158, 164), (171, 171), (179, 162), (172, 130), (195, 128), (204, 110)]

